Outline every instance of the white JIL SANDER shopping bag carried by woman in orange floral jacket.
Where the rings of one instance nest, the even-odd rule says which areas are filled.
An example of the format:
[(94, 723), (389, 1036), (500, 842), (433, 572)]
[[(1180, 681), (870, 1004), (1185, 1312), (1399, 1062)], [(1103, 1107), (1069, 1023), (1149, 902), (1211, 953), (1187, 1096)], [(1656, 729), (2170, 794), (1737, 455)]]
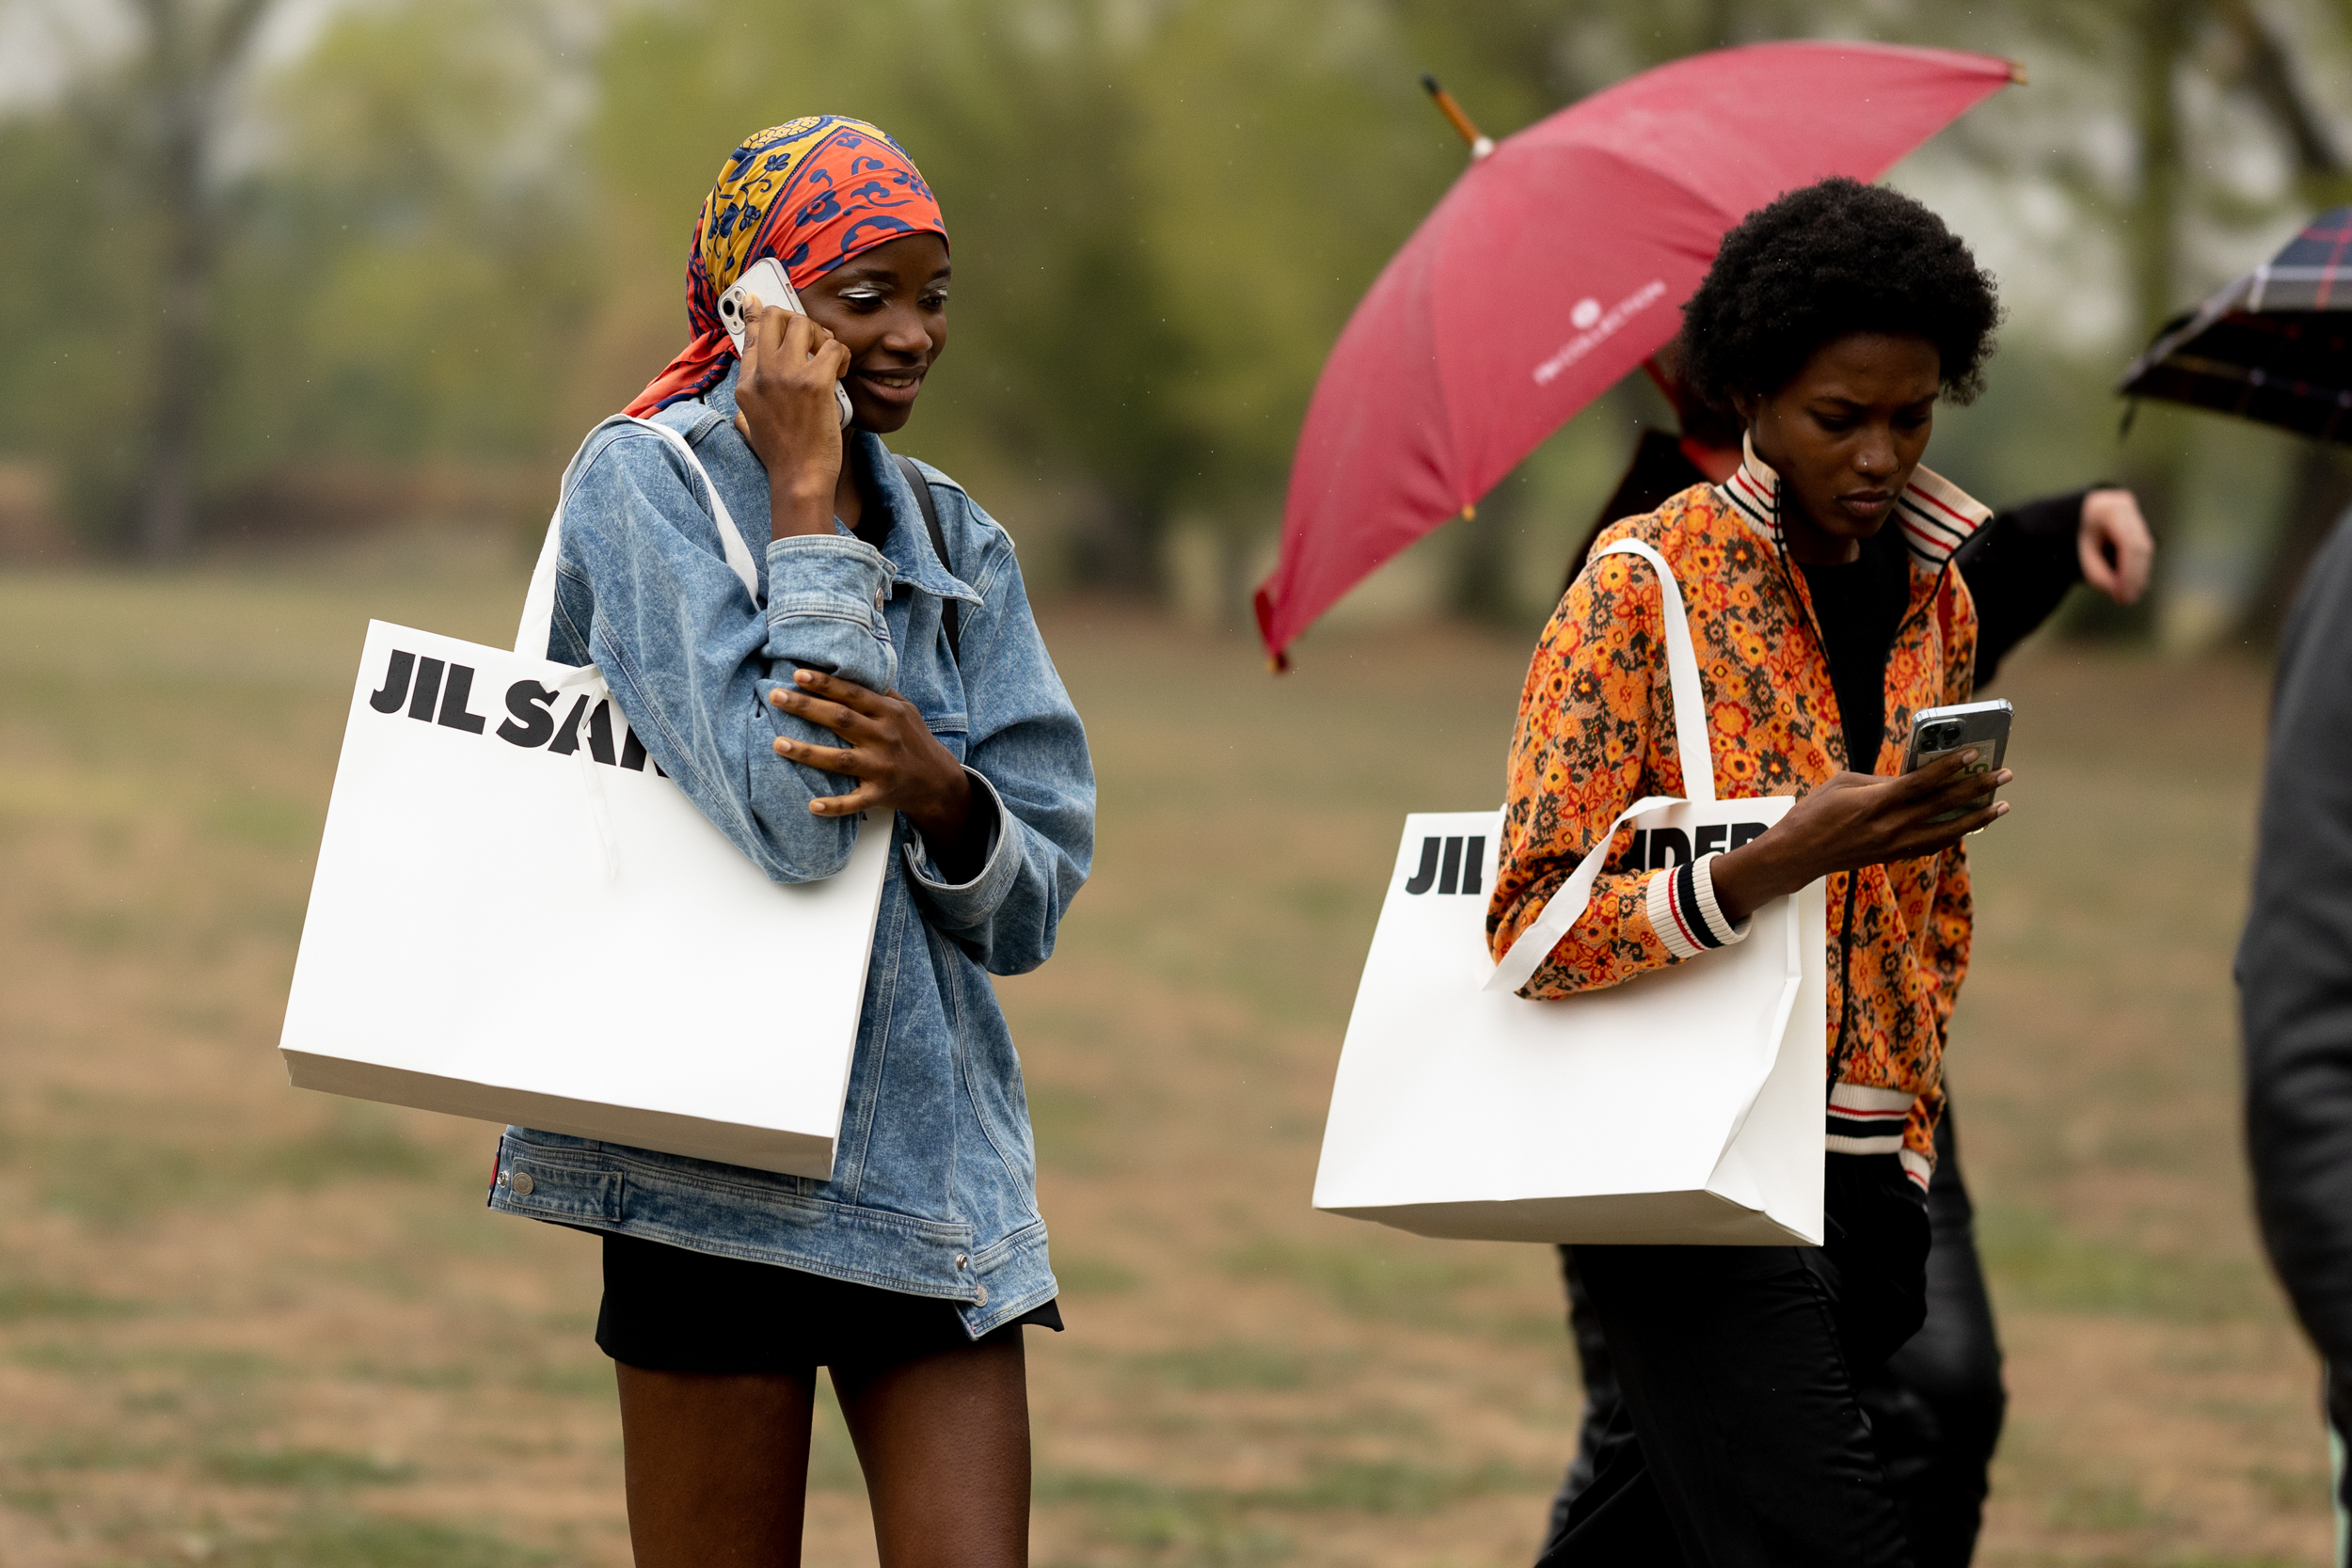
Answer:
[[(1665, 595), (1689, 802), (1635, 823), (1651, 863), (1745, 842), (1790, 797), (1715, 799), (1682, 595)], [(1496, 966), (1486, 893), (1501, 811), (1406, 818), (1348, 1020), (1315, 1206), (1423, 1237), (1494, 1241), (1820, 1244), (1820, 882), (1755, 912), (1748, 940), (1597, 992), (1526, 1001), (1583, 912), (1609, 837)], [(1613, 832), (1613, 830), (1611, 830)]]

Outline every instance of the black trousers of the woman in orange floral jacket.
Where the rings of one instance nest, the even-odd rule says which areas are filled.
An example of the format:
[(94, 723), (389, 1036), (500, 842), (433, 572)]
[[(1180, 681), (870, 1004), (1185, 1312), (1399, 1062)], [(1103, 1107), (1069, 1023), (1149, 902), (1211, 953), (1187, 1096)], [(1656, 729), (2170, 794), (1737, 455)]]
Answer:
[(1893, 1154), (1828, 1157), (1828, 1244), (1578, 1246), (1621, 1403), (1541, 1568), (1910, 1568), (1860, 1387), (1926, 1316)]

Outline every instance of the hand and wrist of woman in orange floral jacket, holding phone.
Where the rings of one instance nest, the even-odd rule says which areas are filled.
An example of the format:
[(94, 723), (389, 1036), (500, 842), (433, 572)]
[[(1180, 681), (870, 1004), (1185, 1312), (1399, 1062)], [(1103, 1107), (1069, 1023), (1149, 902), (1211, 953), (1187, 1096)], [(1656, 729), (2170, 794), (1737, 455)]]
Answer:
[[(1990, 790), (2016, 773), (1971, 773), (1976, 759), (1976, 748), (1969, 748), (1896, 778), (1837, 773), (1816, 785), (1762, 837), (1715, 856), (1708, 867), (1715, 905), (1736, 926), (1773, 898), (1830, 872), (1943, 853), (2009, 816), (2009, 802), (1990, 799)], [(1933, 820), (1950, 811), (1959, 816)]]

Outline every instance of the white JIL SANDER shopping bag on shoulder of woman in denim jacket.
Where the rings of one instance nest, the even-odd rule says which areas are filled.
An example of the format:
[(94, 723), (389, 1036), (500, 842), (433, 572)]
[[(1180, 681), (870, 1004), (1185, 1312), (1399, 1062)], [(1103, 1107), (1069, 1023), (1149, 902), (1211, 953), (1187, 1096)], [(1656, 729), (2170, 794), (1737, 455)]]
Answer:
[(301, 1088), (823, 1180), (891, 820), (861, 823), (840, 875), (769, 882), (647, 759), (595, 668), (541, 656), (553, 592), (555, 524), (529, 651), (369, 623), (287, 1070)]

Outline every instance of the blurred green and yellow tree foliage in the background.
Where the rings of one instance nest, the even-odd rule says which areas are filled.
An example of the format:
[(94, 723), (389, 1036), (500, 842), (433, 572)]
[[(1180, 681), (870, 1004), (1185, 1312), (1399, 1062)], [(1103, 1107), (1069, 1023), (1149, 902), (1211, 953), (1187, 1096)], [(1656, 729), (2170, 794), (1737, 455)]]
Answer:
[[(840, 110), (908, 146), (955, 237), (955, 343), (908, 444), (997, 498), (1042, 583), (1157, 585), (1181, 520), (1214, 536), (1225, 599), (1272, 534), (1334, 336), (1463, 169), (1421, 71), (1505, 136), (1759, 38), (2025, 59), (2039, 87), (1898, 174), (1959, 193), (1964, 228), (2006, 240), (2025, 301), (1938, 461), (1992, 498), (2131, 477), (2237, 548), (2249, 510), (2260, 534), (2286, 501), (2201, 501), (2197, 475), (2227, 465), (2209, 447), (2230, 437), (2150, 425), (2117, 451), (2107, 383), (2147, 320), (2352, 188), (2340, 150), (2328, 172), (2326, 146), (2281, 129), (2347, 42), (2321, 0), (383, 0), (325, 16), (303, 52), (230, 80), (207, 153), (200, 482), (216, 508), (322, 463), (360, 475), (346, 489), (412, 463), (550, 477), (684, 343), (687, 237), (727, 150)], [(2258, 68), (2265, 38), (2284, 78)], [(0, 118), (0, 456), (54, 463), (92, 538), (120, 529), (151, 444), (151, 68), (99, 61), (54, 108)], [(2352, 143), (2326, 103), (2305, 120)], [(2065, 214), (2039, 221), (2063, 244), (2004, 235), (2037, 209)], [(1564, 538), (1519, 536), (1581, 531), (1566, 515), (1606, 494), (1628, 425), (1658, 414), (1642, 404), (1606, 400), (1595, 430), (1482, 505), (1482, 529), (1454, 529), (1458, 607), (1515, 618), (1550, 599)]]

